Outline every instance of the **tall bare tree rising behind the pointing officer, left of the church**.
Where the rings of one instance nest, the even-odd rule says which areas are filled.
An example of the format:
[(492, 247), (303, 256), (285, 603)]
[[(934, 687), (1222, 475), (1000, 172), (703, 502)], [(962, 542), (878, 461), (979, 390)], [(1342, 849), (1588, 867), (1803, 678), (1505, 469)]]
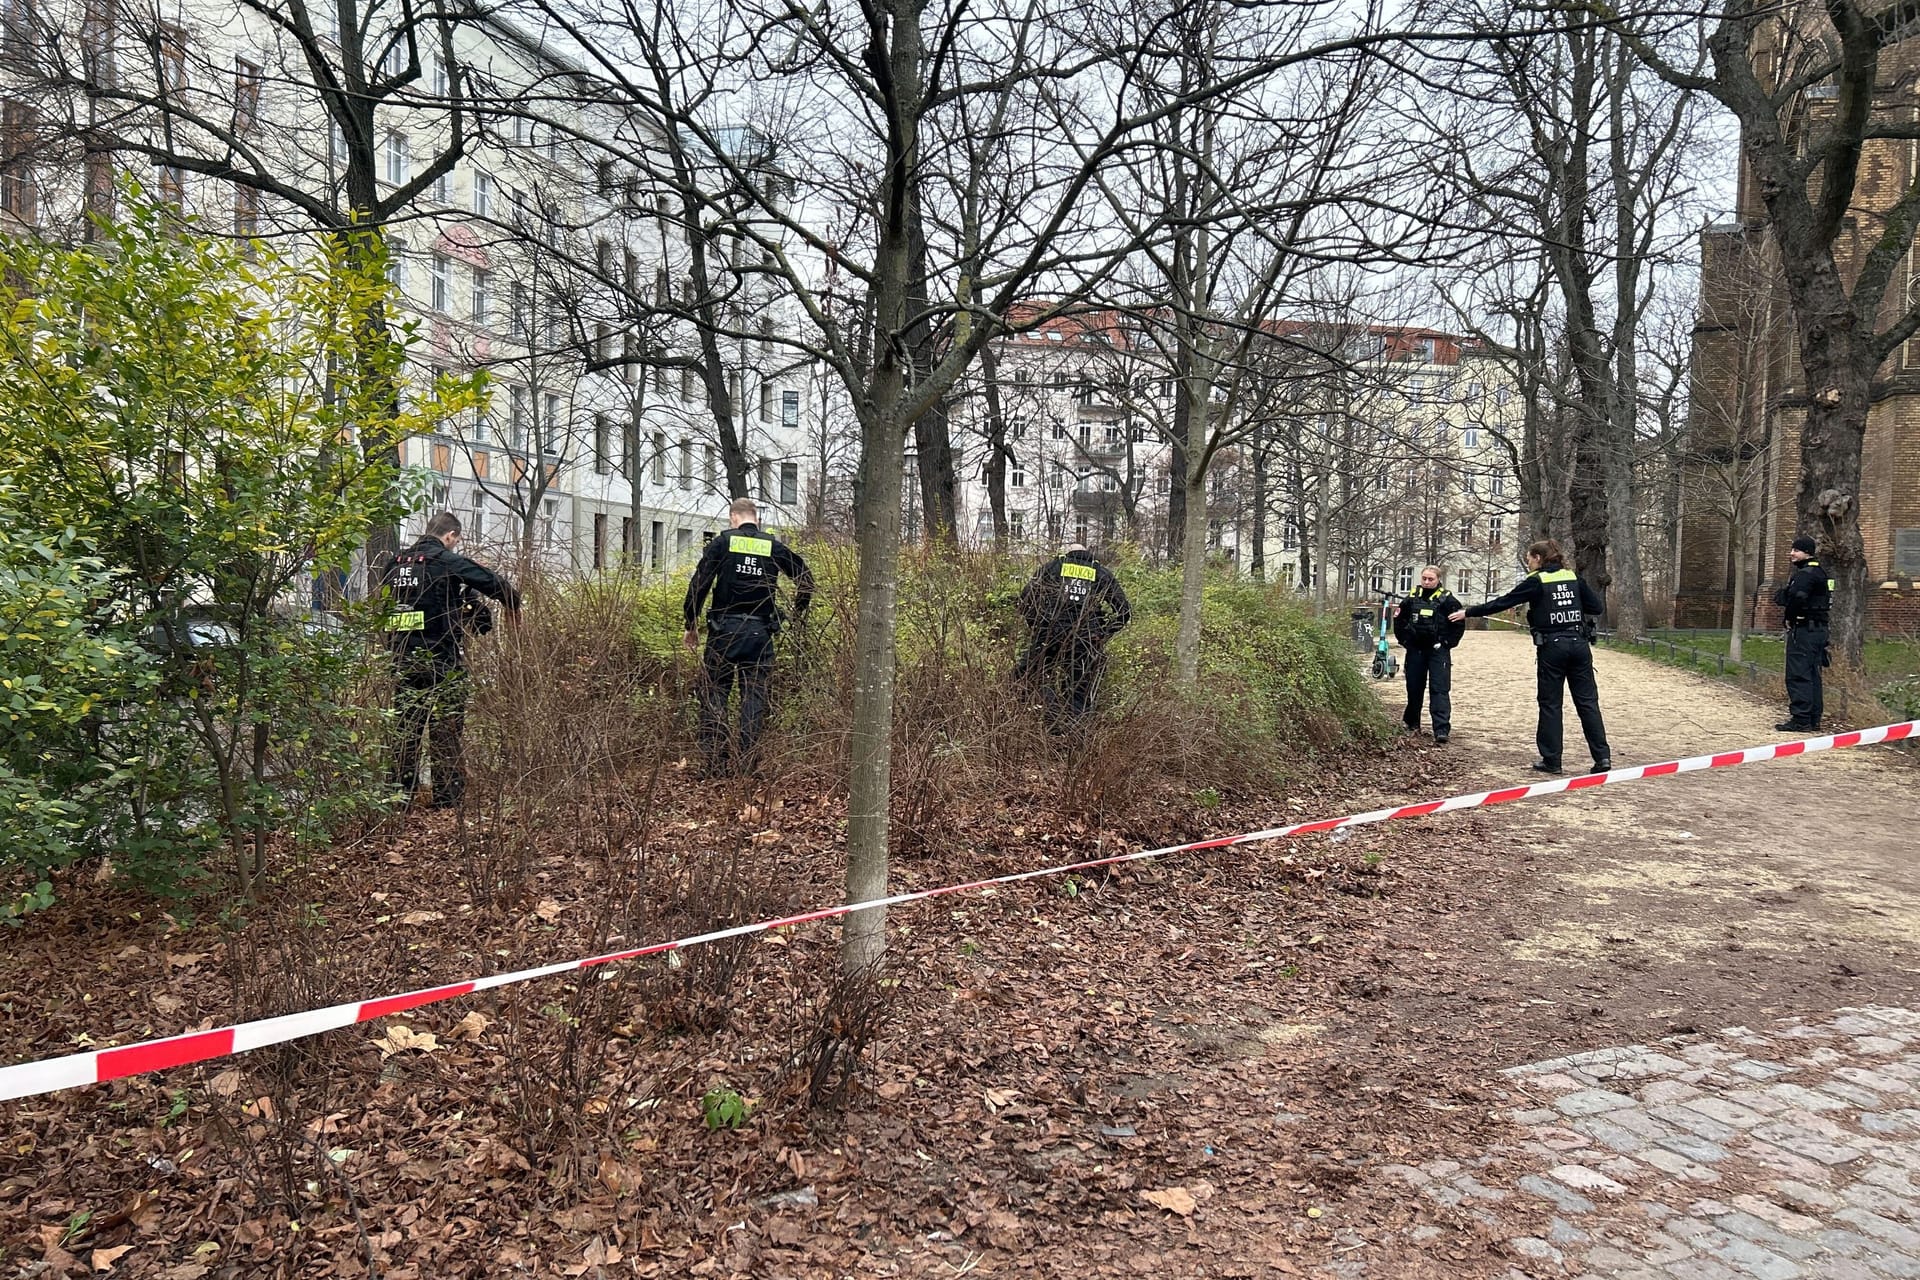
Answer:
[[(1569, 21), (1511, 35), (1515, 15), (1503, 2), (1459, 10), (1484, 42), (1446, 67), (1461, 121), (1448, 130), (1457, 148), (1446, 165), (1478, 211), (1488, 253), (1538, 259), (1553, 282), (1571, 374), (1555, 416), (1572, 439), (1553, 441), (1572, 461), (1565, 533), (1582, 576), (1607, 593), (1613, 626), (1636, 635), (1645, 626), (1642, 322), (1661, 269), (1686, 240), (1676, 215), (1688, 198), (1697, 107), (1640, 67), (1609, 29)], [(1486, 282), (1475, 284), (1467, 309), (1484, 315)], [(1544, 301), (1536, 290), (1524, 307), (1505, 307), (1517, 370), (1544, 367)], [(1475, 322), (1484, 324), (1478, 315)], [(1542, 480), (1538, 470), (1528, 478), (1536, 520), (1548, 514)]]

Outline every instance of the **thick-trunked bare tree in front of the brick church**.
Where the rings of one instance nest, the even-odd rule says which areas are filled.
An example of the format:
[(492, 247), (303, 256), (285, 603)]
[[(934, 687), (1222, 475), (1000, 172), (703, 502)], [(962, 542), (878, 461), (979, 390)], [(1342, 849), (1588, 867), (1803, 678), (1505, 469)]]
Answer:
[(1885, 75), (1916, 38), (1916, 15), (1910, 4), (1724, 0), (1703, 33), (1711, 71), (1697, 71), (1647, 35), (1661, 29), (1655, 17), (1596, 13), (1670, 84), (1715, 98), (1740, 121), (1741, 211), (1766, 213), (1799, 340), (1807, 416), (1795, 510), (1803, 532), (1822, 535), (1837, 583), (1834, 643), (1855, 670), (1868, 591), (1860, 453), (1876, 380), (1920, 332), (1920, 297), (1907, 290), (1920, 173), (1895, 177), (1889, 200), (1860, 188), (1876, 154), (1905, 154), (1920, 138), (1893, 96), (1897, 77)]

